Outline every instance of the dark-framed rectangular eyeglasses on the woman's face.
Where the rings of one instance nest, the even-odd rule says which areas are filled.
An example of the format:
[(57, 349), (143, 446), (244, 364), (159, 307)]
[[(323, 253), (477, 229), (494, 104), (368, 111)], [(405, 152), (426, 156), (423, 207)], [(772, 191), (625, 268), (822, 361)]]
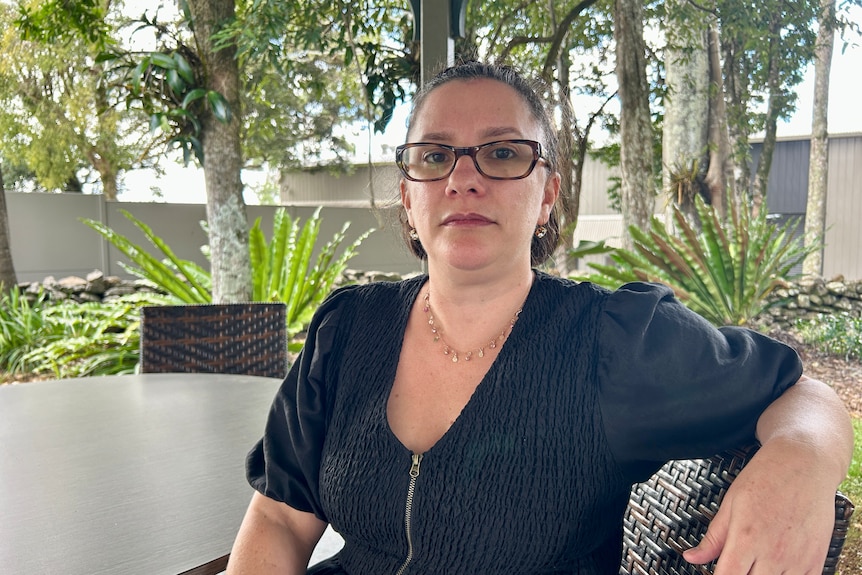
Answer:
[(473, 158), (476, 170), (486, 178), (520, 180), (529, 176), (542, 159), (542, 145), (533, 140), (498, 140), (467, 148), (431, 142), (395, 148), (395, 163), (404, 177), (414, 182), (448, 178), (461, 156)]

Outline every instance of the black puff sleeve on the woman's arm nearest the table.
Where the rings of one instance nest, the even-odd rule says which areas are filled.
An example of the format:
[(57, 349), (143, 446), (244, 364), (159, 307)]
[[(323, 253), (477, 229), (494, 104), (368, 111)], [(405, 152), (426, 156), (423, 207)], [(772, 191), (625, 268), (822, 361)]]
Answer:
[(318, 308), (305, 345), (272, 402), (263, 437), (246, 459), (246, 477), (257, 491), (324, 521), (320, 460), (334, 393), (335, 335), (349, 291), (334, 292)]

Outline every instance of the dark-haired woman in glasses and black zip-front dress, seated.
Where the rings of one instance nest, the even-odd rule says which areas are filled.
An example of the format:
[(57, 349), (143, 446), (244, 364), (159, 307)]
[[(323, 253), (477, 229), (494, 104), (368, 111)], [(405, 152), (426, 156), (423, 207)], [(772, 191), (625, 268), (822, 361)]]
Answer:
[(557, 243), (560, 176), (512, 70), (450, 68), (414, 106), (397, 162), (428, 274), (318, 310), (249, 455), (257, 493), (228, 573), (305, 573), (331, 523), (345, 547), (312, 572), (616, 574), (631, 484), (755, 434), (686, 558), (820, 573), (852, 446), (835, 394), (789, 348), (713, 329), (666, 288), (533, 269)]

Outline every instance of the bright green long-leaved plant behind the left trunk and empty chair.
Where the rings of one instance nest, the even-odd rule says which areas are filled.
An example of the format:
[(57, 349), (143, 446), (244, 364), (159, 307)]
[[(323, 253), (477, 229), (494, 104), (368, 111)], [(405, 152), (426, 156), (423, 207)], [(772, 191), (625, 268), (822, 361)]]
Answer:
[[(209, 303), (212, 301), (212, 281), (209, 271), (196, 263), (179, 258), (153, 230), (125, 210), (128, 218), (159, 251), (163, 259), (150, 254), (127, 237), (95, 220), (82, 220), (120, 250), (134, 265), (123, 265), (135, 275), (172, 296), (175, 303)], [(249, 230), (249, 250), (252, 264), (252, 301), (280, 301), (287, 304), (288, 335), (293, 336), (307, 326), (314, 310), (329, 294), (356, 255), (368, 230), (346, 246), (340, 256), (336, 252), (345, 240), (350, 222), (331, 240), (317, 250), (320, 232), (320, 208), (303, 224), (291, 219), (287, 210), (279, 208), (273, 220), (272, 239), (267, 242), (260, 228), (260, 218)], [(206, 248), (204, 248), (206, 253)]]

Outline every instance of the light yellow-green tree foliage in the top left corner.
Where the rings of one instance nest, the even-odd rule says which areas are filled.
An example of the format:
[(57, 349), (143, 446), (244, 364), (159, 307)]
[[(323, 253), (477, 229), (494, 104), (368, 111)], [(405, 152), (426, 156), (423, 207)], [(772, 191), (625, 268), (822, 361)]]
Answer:
[[(0, 154), (14, 158), (37, 189), (80, 192), (99, 180), (113, 199), (118, 174), (148, 161), (146, 138), (134, 127), (140, 111), (117, 108), (93, 57), (113, 41), (94, 44), (71, 24), (113, 34), (103, 4), (18, 3), (27, 16), (0, 4)], [(58, 28), (64, 22), (69, 27)]]

